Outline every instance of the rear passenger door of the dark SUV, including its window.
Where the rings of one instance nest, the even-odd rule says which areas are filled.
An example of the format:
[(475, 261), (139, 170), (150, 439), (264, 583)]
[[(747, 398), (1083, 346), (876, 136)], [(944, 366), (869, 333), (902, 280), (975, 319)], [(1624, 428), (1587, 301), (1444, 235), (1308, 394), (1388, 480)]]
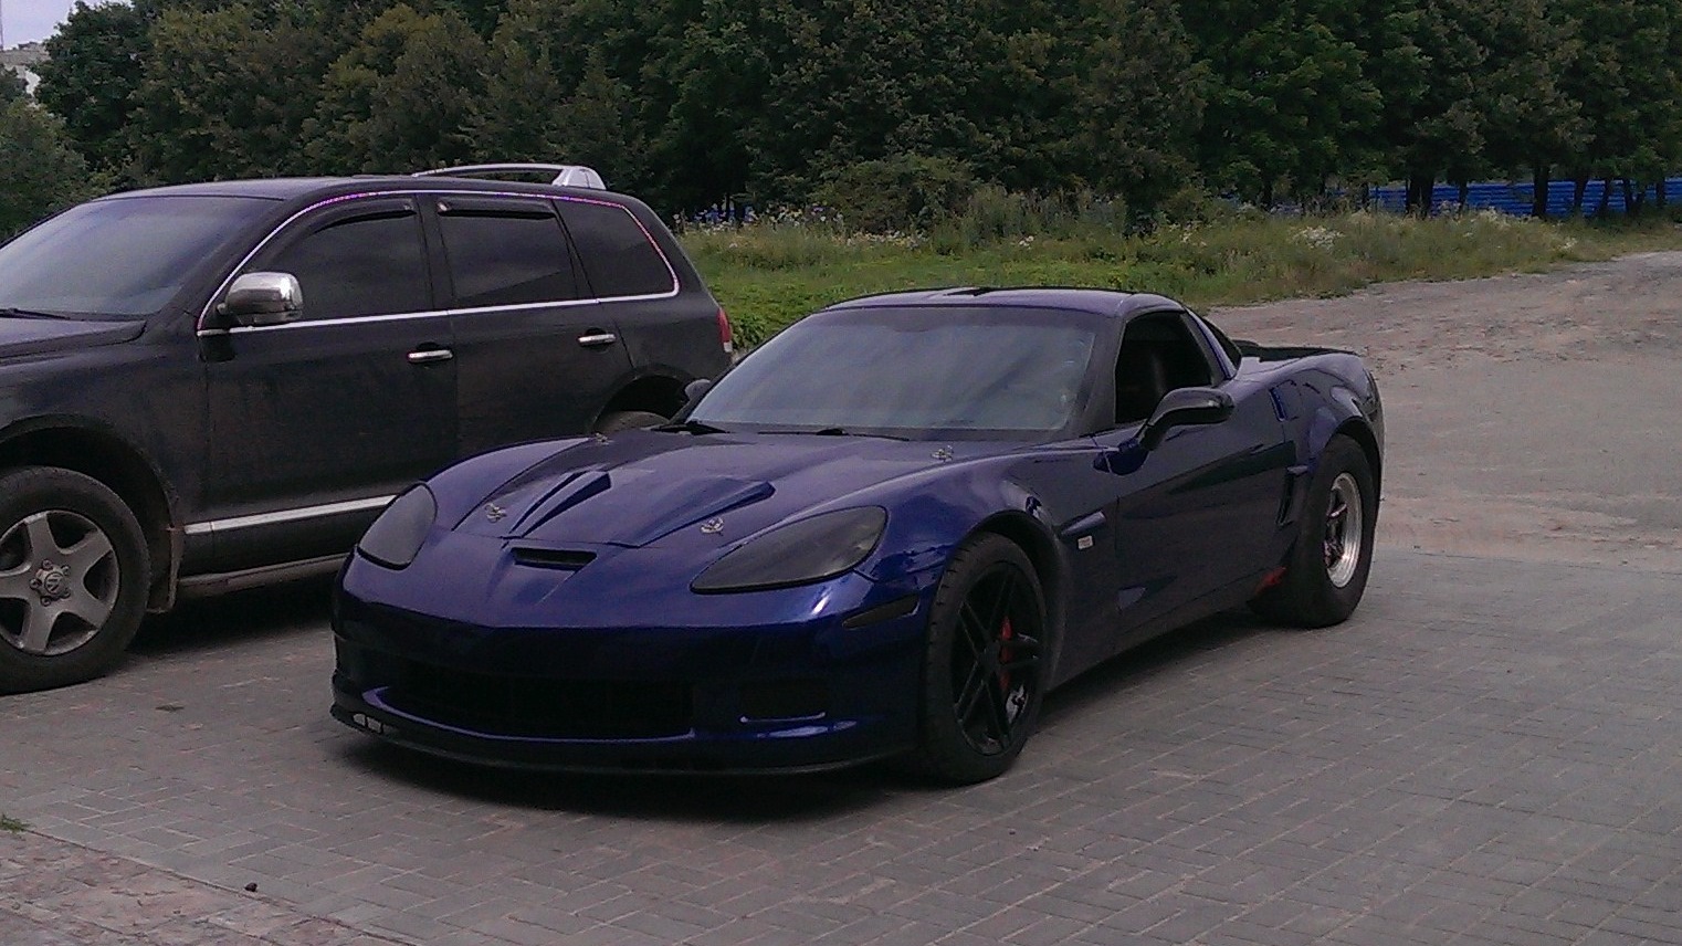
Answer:
[(547, 197), (431, 197), (451, 286), (458, 451), (589, 431), (631, 357)]

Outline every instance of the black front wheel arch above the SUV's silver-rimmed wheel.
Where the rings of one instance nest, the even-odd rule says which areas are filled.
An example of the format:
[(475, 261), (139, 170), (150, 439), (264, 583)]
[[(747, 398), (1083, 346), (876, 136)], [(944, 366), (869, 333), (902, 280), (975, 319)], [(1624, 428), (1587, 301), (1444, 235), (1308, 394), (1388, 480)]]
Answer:
[(151, 561), (146, 608), (167, 611), (175, 601), (182, 557), (178, 497), (143, 449), (111, 428), (86, 417), (34, 417), (0, 431), (0, 468), (59, 466), (93, 476), (135, 513)]

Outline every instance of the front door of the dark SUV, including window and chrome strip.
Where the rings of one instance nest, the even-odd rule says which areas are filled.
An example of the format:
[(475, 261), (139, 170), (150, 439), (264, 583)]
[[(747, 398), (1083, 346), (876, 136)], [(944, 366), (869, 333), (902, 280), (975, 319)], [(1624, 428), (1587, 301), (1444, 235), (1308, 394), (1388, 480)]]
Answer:
[(407, 483), (454, 456), (449, 322), (414, 200), (301, 214), (241, 273), (289, 273), (296, 322), (204, 340), (215, 571), (345, 552)]

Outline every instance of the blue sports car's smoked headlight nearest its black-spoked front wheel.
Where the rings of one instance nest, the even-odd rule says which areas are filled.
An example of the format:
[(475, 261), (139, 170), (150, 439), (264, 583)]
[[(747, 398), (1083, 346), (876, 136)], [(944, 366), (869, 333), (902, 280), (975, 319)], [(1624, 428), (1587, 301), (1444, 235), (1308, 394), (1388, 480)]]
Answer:
[(750, 539), (713, 562), (691, 591), (759, 591), (834, 577), (865, 561), (881, 540), (888, 510), (881, 507), (826, 512)]

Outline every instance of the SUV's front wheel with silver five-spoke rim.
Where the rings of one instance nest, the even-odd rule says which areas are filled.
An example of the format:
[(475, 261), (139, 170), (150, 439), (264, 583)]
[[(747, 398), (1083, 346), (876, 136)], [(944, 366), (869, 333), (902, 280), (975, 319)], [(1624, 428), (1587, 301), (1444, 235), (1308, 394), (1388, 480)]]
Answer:
[(145, 616), (148, 574), (140, 523), (104, 483), (56, 466), (0, 473), (0, 692), (114, 667)]

